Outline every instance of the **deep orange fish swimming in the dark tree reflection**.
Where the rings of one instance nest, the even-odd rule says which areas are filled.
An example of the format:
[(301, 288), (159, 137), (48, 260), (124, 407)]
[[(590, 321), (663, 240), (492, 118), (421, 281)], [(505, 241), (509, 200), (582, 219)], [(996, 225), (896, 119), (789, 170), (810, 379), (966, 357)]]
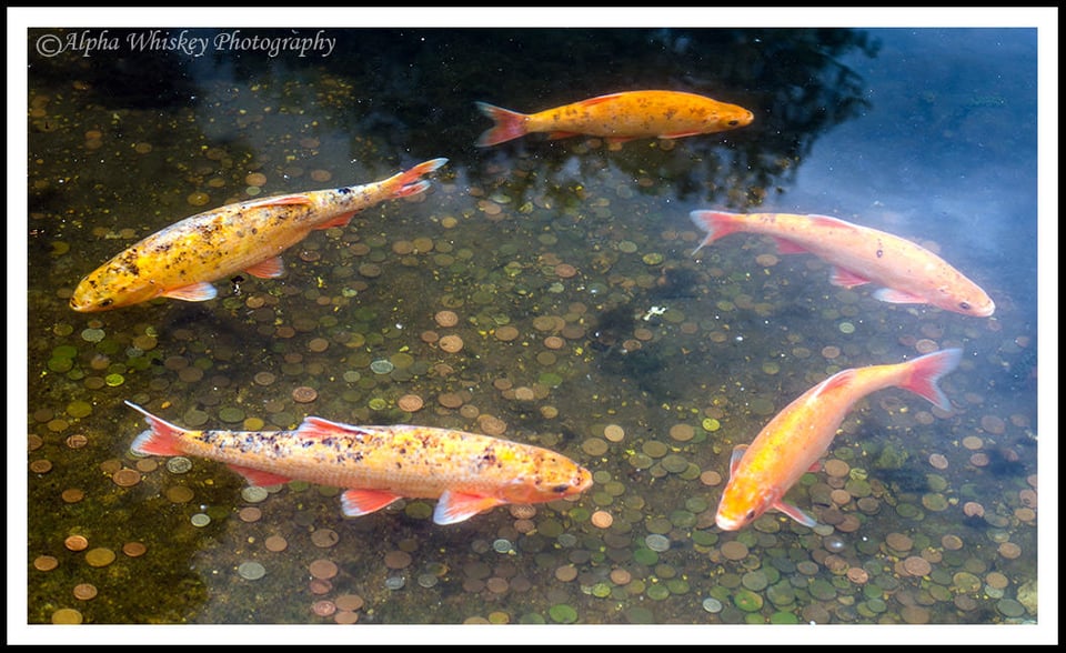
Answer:
[(476, 106), (495, 122), (477, 139), (480, 148), (534, 132), (549, 132), (551, 139), (577, 134), (605, 137), (611, 142), (677, 139), (728, 131), (750, 124), (755, 118), (743, 107), (678, 91), (611, 93), (530, 114), (486, 102), (476, 102)]

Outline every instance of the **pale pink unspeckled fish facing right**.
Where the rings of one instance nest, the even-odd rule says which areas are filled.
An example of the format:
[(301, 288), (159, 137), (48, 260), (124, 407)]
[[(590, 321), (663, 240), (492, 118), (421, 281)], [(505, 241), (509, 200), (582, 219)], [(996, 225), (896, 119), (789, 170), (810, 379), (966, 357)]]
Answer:
[(873, 297), (896, 304), (932, 304), (945, 311), (987, 318), (992, 298), (946, 261), (909, 240), (827, 215), (693, 211), (706, 233), (693, 251), (736, 231), (773, 237), (783, 254), (809, 252), (833, 267), (831, 283), (854, 288), (876, 283)]

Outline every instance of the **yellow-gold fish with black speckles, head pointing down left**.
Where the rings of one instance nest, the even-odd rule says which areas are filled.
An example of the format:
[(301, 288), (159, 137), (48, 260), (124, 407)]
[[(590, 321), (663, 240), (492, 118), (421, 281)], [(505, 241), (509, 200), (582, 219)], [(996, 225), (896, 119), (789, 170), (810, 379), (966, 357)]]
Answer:
[(237, 272), (284, 274), (281, 253), (312, 230), (345, 227), (355, 213), (425, 191), (420, 180), (447, 159), (433, 159), (363, 185), (248, 200), (175, 222), (130, 247), (81, 280), (70, 308), (110, 311), (157, 297), (213, 299), (212, 281)]

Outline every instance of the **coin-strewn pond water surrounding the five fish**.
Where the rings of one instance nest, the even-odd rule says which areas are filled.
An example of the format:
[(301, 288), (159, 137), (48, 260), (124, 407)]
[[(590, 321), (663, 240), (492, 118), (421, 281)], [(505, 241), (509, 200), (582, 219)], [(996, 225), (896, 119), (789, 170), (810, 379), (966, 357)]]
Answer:
[[(29, 31), (28, 70), (16, 620), (1046, 619), (1035, 29), (57, 28)], [(754, 120), (474, 145), (492, 127), (475, 101), (534, 112), (650, 88)], [(426, 192), (313, 231), (281, 278), (230, 275), (204, 302), (68, 305), (82, 277), (188, 215), (441, 157)], [(901, 235), (996, 311), (877, 301), (758, 235), (694, 255), (696, 209)], [(817, 526), (773, 510), (715, 525), (733, 448), (793, 399), (948, 348), (964, 351), (941, 382), (951, 411), (869, 394), (790, 491)], [(144, 424), (127, 400), (189, 429), (318, 415), (491, 433), (557, 451), (594, 484), (447, 526), (432, 499), (344, 518), (344, 489), (250, 490), (218, 462), (131, 453)]]

